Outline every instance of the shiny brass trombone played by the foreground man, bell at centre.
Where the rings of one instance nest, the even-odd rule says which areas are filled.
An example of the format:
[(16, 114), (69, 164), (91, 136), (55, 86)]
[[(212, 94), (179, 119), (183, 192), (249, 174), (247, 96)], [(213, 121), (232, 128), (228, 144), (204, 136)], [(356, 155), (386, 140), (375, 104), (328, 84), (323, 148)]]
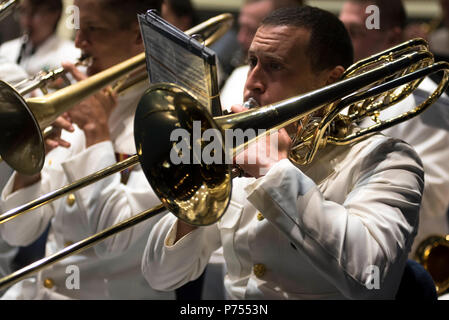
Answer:
[[(433, 63), (406, 75), (396, 76), (412, 65), (422, 62), (423, 59), (428, 59), (429, 55), (431, 56), (429, 52), (408, 53), (403, 57), (398, 57), (395, 61), (385, 63), (381, 67), (348, 77), (313, 92), (258, 109), (250, 109), (246, 112), (216, 118), (212, 118), (197, 102), (198, 100), (180, 86), (174, 84), (154, 84), (150, 86), (142, 97), (135, 115), (134, 135), (138, 152), (133, 160), (127, 161), (131, 163), (140, 162), (147, 180), (162, 204), (0, 279), (0, 288), (9, 286), (56, 261), (87, 249), (109, 236), (166, 210), (192, 225), (209, 225), (220, 219), (227, 208), (231, 195), (231, 166), (228, 164), (208, 165), (204, 163), (189, 166), (173, 165), (170, 161), (173, 143), (169, 142), (169, 137), (174, 129), (185, 128), (190, 131), (193, 127), (193, 121), (201, 121), (202, 132), (212, 128), (217, 129), (222, 134), (224, 130), (235, 128), (278, 130), (317, 110), (326, 110), (327, 113), (321, 117), (323, 123), (320, 124), (320, 128), (315, 130), (315, 135), (312, 135), (312, 137), (318, 136), (320, 146), (325, 145), (325, 143), (337, 145), (351, 143), (420, 114), (438, 99), (448, 85), (448, 63)], [(347, 106), (365, 99), (381, 97), (383, 92), (415, 83), (417, 79), (435, 72), (444, 73), (435, 92), (430, 95), (428, 100), (397, 119), (379, 122), (370, 130), (354, 131), (352, 130), (351, 115), (343, 116), (340, 113)], [(373, 83), (379, 82), (379, 85), (372, 86)], [(331, 106), (330, 110), (329, 106)], [(365, 113), (365, 116), (370, 116), (370, 114), (371, 111)], [(354, 117), (358, 118), (356, 115)], [(302, 133), (300, 132), (300, 135)], [(224, 155), (227, 151), (230, 151), (231, 154), (238, 153), (239, 150), (255, 139), (236, 146), (232, 150), (221, 150), (223, 153), (221, 158), (225, 159)], [(294, 140), (294, 144), (304, 143), (303, 140), (305, 139), (299, 136)], [(306, 142), (309, 140), (313, 139), (310, 138)], [(295, 160), (297, 157), (295, 155), (296, 150), (295, 147), (292, 148), (289, 156), (294, 163), (297, 163)], [(301, 156), (299, 158), (302, 159)], [(311, 158), (307, 159), (310, 160)], [(115, 168), (116, 166), (123, 168), (127, 164), (121, 162), (109, 167), (105, 169), (107, 174), (120, 171), (120, 168)], [(103, 174), (96, 173), (94, 176), (94, 180), (97, 181), (101, 179)], [(90, 179), (91, 176), (86, 177), (83, 179), (84, 181), (79, 182), (78, 187), (82, 184), (91, 183)], [(50, 200), (47, 199), (46, 201)], [(29, 209), (37, 208), (44, 203), (45, 201), (39, 205), (35, 204)], [(214, 208), (214, 210), (210, 210), (210, 208)], [(2, 220), (12, 219), (11, 213), (2, 215)]]

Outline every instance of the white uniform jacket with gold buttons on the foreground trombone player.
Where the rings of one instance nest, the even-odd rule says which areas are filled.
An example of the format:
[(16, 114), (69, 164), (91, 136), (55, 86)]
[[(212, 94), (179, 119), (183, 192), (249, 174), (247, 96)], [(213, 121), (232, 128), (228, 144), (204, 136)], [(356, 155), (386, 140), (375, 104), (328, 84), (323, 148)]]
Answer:
[(423, 186), (414, 150), (380, 134), (327, 146), (301, 170), (284, 159), (262, 178), (234, 179), (221, 220), (176, 243), (177, 219), (165, 215), (150, 233), (143, 273), (172, 290), (222, 246), (231, 299), (394, 298)]

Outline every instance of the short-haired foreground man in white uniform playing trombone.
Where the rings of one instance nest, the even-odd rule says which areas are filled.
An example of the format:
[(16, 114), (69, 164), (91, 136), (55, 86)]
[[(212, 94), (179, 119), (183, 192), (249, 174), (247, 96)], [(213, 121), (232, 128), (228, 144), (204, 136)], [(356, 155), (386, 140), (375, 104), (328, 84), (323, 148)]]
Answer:
[[(352, 63), (352, 50), (333, 14), (309, 6), (277, 10), (251, 44), (245, 100), (267, 105), (334, 83)], [(295, 166), (287, 159), (297, 129), (291, 126), (278, 132), (269, 156), (238, 162), (250, 177), (234, 179), (219, 222), (193, 227), (174, 215), (158, 221), (142, 261), (153, 288), (194, 280), (222, 247), (231, 299), (395, 297), (418, 225), (419, 157), (402, 141), (373, 135), (327, 145), (311, 164)], [(257, 150), (270, 147), (266, 142)]]

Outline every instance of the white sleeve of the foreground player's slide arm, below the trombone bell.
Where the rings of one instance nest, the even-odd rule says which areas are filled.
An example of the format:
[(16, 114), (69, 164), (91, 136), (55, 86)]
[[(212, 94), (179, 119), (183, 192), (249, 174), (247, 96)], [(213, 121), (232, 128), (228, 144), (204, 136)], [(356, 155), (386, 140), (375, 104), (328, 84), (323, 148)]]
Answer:
[(174, 243), (177, 217), (165, 215), (151, 230), (142, 259), (142, 273), (156, 290), (174, 290), (197, 279), (220, 247), (216, 224), (199, 227)]

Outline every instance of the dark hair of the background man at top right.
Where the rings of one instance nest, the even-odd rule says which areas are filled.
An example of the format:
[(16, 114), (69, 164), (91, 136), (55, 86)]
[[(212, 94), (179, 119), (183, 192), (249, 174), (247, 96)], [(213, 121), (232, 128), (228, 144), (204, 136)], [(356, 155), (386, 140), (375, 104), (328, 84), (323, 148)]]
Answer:
[(402, 0), (349, 0), (363, 6), (375, 5), (380, 11), (380, 28), (390, 29), (407, 25), (407, 13)]

